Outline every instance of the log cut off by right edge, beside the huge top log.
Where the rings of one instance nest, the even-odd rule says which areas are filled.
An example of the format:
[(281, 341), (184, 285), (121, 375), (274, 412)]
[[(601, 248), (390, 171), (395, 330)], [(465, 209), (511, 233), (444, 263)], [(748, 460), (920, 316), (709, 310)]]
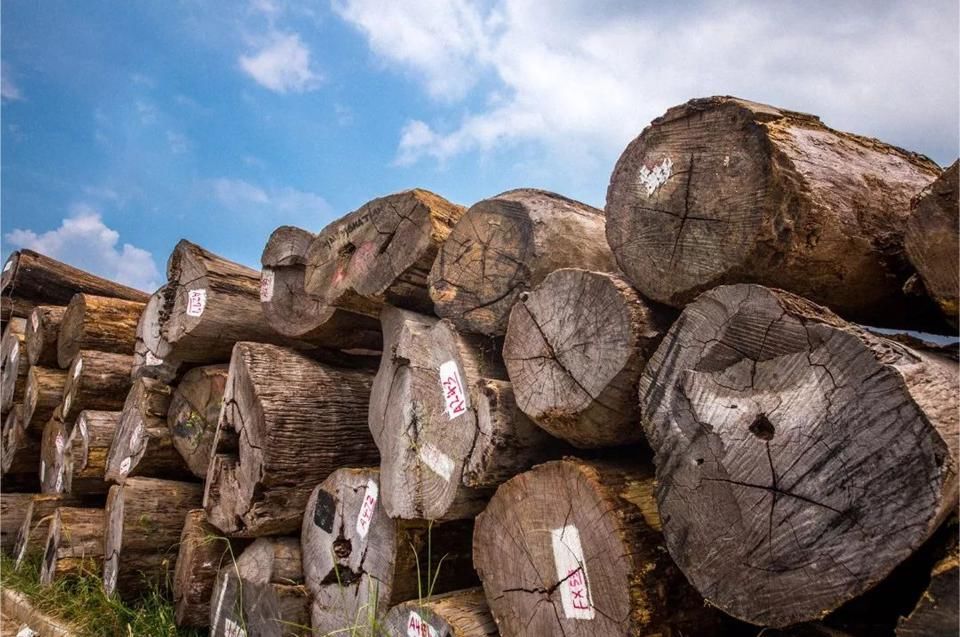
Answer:
[(960, 288), (957, 254), (960, 254), (960, 185), (958, 162), (911, 202), (904, 246), (927, 293), (944, 317), (957, 327)]

